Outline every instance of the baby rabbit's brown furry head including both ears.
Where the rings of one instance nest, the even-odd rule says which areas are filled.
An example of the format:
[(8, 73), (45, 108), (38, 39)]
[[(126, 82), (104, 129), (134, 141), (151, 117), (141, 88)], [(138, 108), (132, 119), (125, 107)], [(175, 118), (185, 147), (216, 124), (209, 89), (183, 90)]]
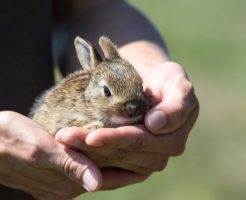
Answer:
[(83, 94), (90, 115), (109, 127), (142, 121), (146, 112), (142, 79), (134, 67), (120, 57), (112, 41), (105, 36), (99, 39), (105, 59), (80, 37), (75, 38), (74, 44), (80, 64), (90, 77)]

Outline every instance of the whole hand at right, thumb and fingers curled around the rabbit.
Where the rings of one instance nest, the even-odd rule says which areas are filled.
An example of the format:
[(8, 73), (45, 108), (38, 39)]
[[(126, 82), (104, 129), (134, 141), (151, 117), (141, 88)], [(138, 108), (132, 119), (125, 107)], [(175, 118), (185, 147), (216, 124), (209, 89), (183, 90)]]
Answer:
[[(145, 93), (154, 104), (145, 118), (147, 128), (144, 125), (125, 126), (91, 133), (68, 128), (56, 139), (82, 150), (99, 167), (117, 167), (145, 175), (164, 169), (170, 156), (183, 153), (199, 105), (180, 65), (166, 62), (142, 69)], [(131, 180), (131, 176), (127, 178)]]

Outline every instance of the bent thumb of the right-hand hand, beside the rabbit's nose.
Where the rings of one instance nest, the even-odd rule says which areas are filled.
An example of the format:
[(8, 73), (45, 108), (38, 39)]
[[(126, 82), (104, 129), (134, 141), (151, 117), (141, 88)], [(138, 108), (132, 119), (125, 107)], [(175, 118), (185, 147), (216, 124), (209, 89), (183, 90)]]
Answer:
[(164, 100), (146, 114), (145, 125), (152, 133), (165, 134), (178, 129), (197, 106), (192, 84), (186, 79), (180, 82), (179, 87), (169, 88)]

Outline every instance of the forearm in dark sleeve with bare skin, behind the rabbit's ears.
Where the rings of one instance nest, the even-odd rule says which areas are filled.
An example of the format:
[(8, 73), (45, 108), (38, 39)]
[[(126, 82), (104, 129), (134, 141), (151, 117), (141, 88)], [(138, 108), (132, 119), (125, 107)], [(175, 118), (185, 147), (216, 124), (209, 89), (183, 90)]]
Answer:
[[(78, 4), (78, 1), (74, 3), (76, 2)], [(166, 45), (157, 30), (126, 2), (104, 1), (99, 5), (90, 6), (86, 11), (84, 9), (83, 13), (77, 10), (72, 10), (69, 47), (66, 48), (68, 51), (64, 56), (73, 52), (72, 44), (76, 35), (88, 39), (95, 45), (99, 36), (107, 35), (118, 44), (122, 57), (133, 64), (153, 66), (168, 60)], [(69, 57), (71, 65), (72, 56)]]

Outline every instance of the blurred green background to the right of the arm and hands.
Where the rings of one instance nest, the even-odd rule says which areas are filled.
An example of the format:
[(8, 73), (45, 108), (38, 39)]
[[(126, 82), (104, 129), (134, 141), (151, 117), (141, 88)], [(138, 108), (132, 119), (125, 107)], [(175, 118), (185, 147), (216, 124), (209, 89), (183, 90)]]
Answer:
[(246, 1), (130, 0), (192, 80), (201, 111), (186, 151), (147, 181), (78, 200), (246, 199)]

